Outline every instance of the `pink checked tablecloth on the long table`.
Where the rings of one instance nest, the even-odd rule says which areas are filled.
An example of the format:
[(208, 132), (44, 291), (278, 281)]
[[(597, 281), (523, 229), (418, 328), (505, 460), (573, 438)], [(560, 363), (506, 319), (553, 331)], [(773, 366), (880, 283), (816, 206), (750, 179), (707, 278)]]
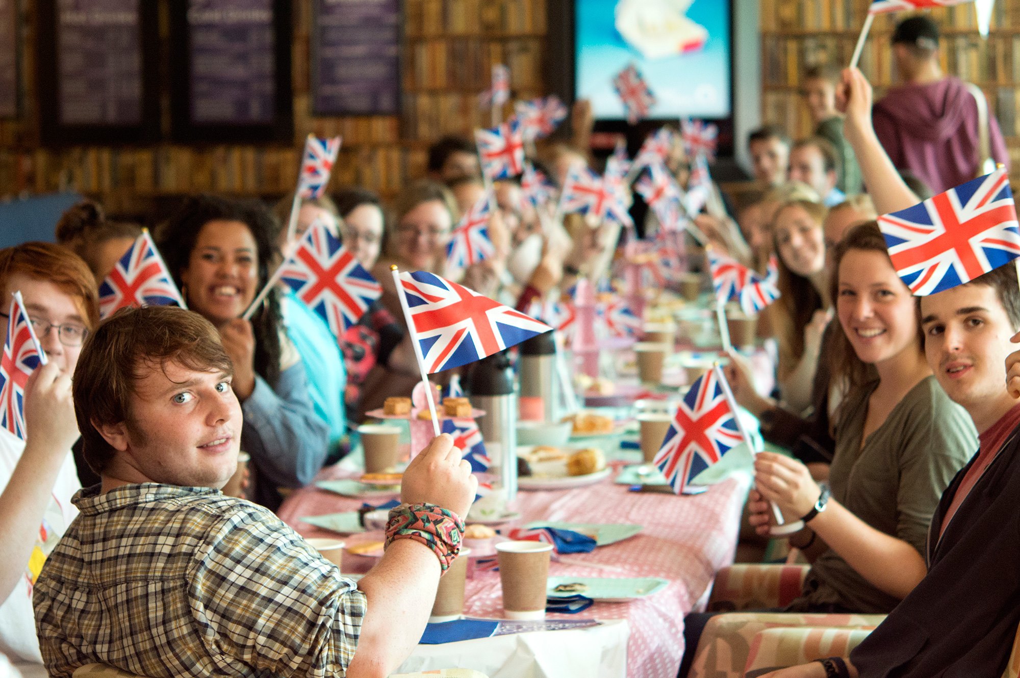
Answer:
[[(345, 475), (334, 467), (324, 469), (319, 477)], [(629, 539), (600, 546), (591, 554), (566, 557), (571, 563), (607, 567), (554, 562), (550, 574), (669, 579), (672, 582), (669, 586), (649, 598), (596, 603), (581, 614), (628, 621), (628, 675), (674, 678), (683, 655), (684, 615), (704, 596), (715, 572), (733, 561), (746, 488), (745, 481), (730, 479), (697, 497), (674, 497), (627, 491), (626, 486), (606, 479), (575, 489), (521, 491), (515, 508), (522, 514), (523, 522), (555, 520), (644, 525), (645, 529)], [(351, 511), (360, 505), (361, 500), (309, 486), (294, 492), (278, 514), (305, 536), (326, 536), (330, 533), (301, 522), (301, 517)], [(348, 569), (346, 559), (345, 556), (345, 570)], [(477, 572), (468, 580), (464, 612), (473, 617), (502, 615), (498, 572)]]

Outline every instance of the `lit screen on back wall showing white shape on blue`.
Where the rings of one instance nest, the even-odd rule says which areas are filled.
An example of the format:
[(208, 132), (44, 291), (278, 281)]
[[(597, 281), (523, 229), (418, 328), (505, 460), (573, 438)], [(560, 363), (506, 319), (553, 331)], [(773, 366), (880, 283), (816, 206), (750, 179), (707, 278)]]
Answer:
[(599, 119), (623, 118), (612, 80), (633, 63), (649, 117), (723, 118), (730, 100), (729, 0), (575, 0), (575, 95)]

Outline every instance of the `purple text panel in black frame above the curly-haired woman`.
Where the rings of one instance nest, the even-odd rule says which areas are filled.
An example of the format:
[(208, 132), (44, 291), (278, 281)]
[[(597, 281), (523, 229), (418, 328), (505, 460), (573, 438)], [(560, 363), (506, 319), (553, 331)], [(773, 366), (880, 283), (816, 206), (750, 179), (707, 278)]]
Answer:
[(272, 5), (272, 0), (189, 0), (192, 122), (273, 121)]

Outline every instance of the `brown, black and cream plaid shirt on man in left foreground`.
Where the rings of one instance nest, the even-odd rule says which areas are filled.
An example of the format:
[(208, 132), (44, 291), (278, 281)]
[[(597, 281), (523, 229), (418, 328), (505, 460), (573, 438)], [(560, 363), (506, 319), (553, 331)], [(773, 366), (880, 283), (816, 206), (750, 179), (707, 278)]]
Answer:
[(365, 595), (266, 509), (156, 483), (74, 496), (34, 604), (43, 660), (150, 678), (344, 676)]

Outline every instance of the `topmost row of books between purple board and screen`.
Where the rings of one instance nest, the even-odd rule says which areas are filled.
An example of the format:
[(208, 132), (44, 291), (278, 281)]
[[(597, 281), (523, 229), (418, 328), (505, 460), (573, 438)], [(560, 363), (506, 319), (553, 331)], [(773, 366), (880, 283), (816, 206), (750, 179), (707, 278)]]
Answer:
[(545, 34), (546, 0), (405, 0), (404, 19), (409, 38)]

